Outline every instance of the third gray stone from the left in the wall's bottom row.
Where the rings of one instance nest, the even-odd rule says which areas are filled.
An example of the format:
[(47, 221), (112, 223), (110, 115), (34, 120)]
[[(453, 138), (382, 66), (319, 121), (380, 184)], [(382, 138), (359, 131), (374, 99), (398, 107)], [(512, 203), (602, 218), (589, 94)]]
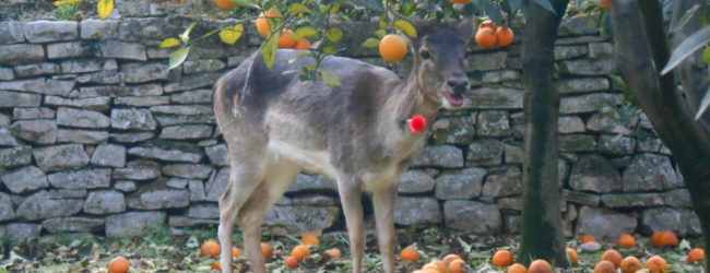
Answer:
[(145, 228), (165, 224), (165, 212), (127, 212), (106, 217), (106, 236), (135, 236)]

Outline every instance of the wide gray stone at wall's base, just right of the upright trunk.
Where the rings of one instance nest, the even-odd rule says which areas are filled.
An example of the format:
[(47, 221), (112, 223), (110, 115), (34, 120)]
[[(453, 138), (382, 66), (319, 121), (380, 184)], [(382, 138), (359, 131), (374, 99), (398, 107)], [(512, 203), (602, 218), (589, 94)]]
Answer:
[(622, 234), (630, 234), (638, 225), (635, 217), (624, 213), (582, 206), (577, 221), (578, 234), (590, 234), (600, 241), (615, 241)]

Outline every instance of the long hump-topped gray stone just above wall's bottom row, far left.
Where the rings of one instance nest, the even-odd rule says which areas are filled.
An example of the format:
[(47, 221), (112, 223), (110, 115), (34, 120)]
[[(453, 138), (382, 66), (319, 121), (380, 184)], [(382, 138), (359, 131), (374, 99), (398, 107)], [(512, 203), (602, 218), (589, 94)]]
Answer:
[(83, 200), (54, 200), (47, 191), (42, 190), (20, 203), (17, 215), (28, 221), (70, 216), (79, 213), (83, 205)]

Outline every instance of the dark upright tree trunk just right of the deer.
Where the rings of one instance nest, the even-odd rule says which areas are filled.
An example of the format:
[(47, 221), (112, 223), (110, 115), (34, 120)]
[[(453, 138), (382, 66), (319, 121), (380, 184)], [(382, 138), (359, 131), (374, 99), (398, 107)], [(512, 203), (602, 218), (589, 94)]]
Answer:
[(553, 85), (555, 39), (567, 0), (552, 0), (556, 14), (530, 1), (523, 29), (525, 156), (520, 257), (524, 264), (544, 259), (567, 265), (557, 183), (559, 93)]

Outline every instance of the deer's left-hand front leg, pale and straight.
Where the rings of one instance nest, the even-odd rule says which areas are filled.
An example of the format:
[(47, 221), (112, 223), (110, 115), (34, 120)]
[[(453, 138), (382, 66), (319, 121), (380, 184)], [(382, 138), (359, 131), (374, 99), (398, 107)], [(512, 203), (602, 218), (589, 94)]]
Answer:
[(347, 225), (347, 235), (350, 236), (350, 249), (353, 256), (353, 272), (363, 271), (363, 251), (365, 251), (365, 237), (363, 234), (363, 203), (360, 201), (360, 183), (353, 178), (338, 179), (338, 191), (343, 212), (345, 214), (345, 224)]

